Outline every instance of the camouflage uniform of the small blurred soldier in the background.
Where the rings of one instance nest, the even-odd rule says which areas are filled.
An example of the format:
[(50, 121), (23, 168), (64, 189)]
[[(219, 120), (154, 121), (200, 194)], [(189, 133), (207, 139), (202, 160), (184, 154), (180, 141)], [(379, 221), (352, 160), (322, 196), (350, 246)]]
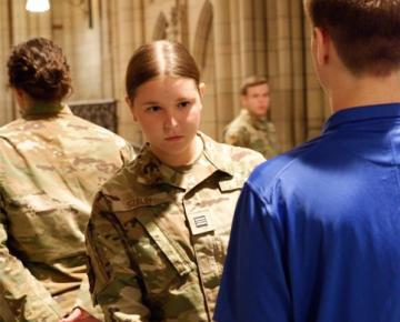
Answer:
[(257, 119), (243, 109), (223, 131), (226, 143), (244, 147), (260, 152), (270, 159), (280, 152), (277, 131), (267, 119)]

